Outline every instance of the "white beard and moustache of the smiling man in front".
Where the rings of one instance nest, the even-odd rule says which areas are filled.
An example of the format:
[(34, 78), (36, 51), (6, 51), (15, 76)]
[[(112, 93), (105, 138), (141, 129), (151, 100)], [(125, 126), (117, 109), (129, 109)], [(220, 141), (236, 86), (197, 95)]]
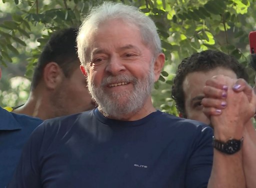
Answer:
[[(110, 83), (130, 82), (133, 84), (132, 91), (105, 92), (104, 87)], [(87, 76), (88, 90), (98, 104), (98, 109), (106, 117), (121, 119), (126, 114), (138, 112), (150, 96), (154, 84), (153, 65), (146, 76), (138, 80), (129, 75), (117, 75), (104, 77), (102, 83), (97, 88), (93, 80)], [(118, 87), (118, 86), (117, 86)]]

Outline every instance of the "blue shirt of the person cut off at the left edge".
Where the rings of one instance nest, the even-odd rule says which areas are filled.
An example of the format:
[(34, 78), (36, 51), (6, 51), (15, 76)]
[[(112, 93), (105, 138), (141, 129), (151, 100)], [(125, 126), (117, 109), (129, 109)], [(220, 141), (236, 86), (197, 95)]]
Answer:
[(0, 108), (0, 188), (10, 181), (24, 143), (42, 120)]

